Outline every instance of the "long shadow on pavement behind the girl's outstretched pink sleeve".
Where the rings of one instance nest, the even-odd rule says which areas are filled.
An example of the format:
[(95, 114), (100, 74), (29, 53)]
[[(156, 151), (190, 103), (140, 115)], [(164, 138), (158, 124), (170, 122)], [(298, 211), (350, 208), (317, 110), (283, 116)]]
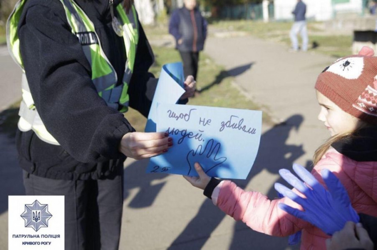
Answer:
[[(302, 122), (303, 116), (296, 114), (263, 133), (260, 139), (258, 155), (249, 177), (246, 180), (237, 180), (235, 183), (245, 188), (250, 180), (262, 170), (267, 170), (269, 173), (277, 175), (278, 170), (281, 168), (291, 169), (292, 164), (305, 152), (302, 145), (288, 145), (286, 141), (291, 131), (297, 131)], [(278, 181), (286, 184), (280, 179)], [(273, 187), (266, 195), (270, 199), (277, 197)], [(227, 215), (214, 206), (210, 199), (207, 199), (203, 202), (197, 215), (187, 224), (168, 249), (202, 249), (211, 233), (225, 216)], [(234, 236), (229, 249), (283, 250), (288, 246), (287, 237), (271, 237), (253, 231), (243, 222), (236, 222), (233, 232)], [(293, 246), (293, 249), (298, 248), (299, 245)]]

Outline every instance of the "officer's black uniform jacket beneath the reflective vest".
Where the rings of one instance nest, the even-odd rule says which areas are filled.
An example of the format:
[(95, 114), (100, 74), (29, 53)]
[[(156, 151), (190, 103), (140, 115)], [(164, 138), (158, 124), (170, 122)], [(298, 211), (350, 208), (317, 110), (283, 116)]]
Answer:
[[(115, 6), (120, 0), (114, 1)], [(112, 29), (109, 0), (76, 0), (95, 25), (102, 48), (122, 84), (126, 52)], [(148, 69), (153, 54), (139, 24), (140, 38), (129, 85), (130, 106), (148, 115), (157, 80)], [(71, 33), (59, 0), (28, 0), (18, 26), (20, 50), (35, 106), (54, 146), (33, 131), (17, 133), (21, 167), (52, 179), (99, 179), (122, 171), (121, 138), (133, 132), (122, 113), (110, 108), (91, 81), (91, 68)]]

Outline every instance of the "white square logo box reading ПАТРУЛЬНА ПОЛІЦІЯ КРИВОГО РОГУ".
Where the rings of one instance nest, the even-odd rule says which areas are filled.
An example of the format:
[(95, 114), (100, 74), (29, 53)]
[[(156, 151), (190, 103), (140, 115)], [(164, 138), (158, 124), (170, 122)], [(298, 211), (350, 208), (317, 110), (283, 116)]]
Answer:
[(8, 196), (9, 250), (64, 250), (64, 196)]

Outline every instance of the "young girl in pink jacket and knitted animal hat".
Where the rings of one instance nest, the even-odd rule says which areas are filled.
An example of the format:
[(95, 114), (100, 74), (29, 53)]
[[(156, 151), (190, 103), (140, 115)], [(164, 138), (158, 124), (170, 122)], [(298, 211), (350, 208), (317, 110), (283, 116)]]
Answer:
[[(358, 213), (377, 216), (377, 57), (364, 47), (358, 55), (341, 58), (318, 76), (315, 88), (321, 106), (318, 119), (331, 138), (314, 155), (312, 174), (332, 171), (347, 189), (352, 207)], [(301, 249), (326, 249), (321, 229), (278, 208), (286, 203), (302, 209), (288, 198), (269, 200), (259, 192), (246, 192), (231, 181), (207, 176), (199, 163), (199, 177), (184, 178), (235, 220), (253, 230), (274, 236), (288, 236), (302, 230)], [(297, 191), (298, 192), (298, 191)]]

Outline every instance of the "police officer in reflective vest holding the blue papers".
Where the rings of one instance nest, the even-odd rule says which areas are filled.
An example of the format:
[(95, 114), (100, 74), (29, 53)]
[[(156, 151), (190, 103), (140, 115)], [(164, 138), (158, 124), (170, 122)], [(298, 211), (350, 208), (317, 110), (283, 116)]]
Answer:
[[(173, 145), (123, 114), (148, 116), (157, 84), (132, 0), (23, 0), (7, 35), (24, 72), (16, 144), (26, 194), (64, 195), (65, 249), (118, 249), (125, 159)], [(183, 103), (193, 76), (184, 84)]]

